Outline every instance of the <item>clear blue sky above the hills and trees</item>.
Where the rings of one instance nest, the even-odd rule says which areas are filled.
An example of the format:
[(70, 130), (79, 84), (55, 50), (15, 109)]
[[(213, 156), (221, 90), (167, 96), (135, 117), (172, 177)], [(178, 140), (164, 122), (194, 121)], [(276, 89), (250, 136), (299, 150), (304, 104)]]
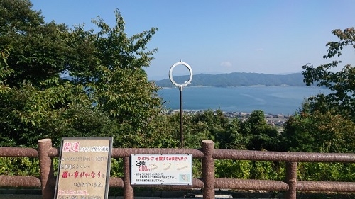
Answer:
[[(187, 62), (194, 74), (302, 72), (302, 65), (325, 64), (325, 46), (337, 41), (333, 29), (355, 26), (353, 0), (31, 0), (45, 21), (68, 27), (92, 18), (114, 26), (119, 9), (131, 36), (158, 28), (148, 49), (158, 48), (148, 79), (168, 78), (175, 62)], [(340, 60), (355, 65), (355, 51), (348, 47)], [(342, 68), (342, 67), (341, 67)], [(175, 67), (174, 74), (188, 74)]]

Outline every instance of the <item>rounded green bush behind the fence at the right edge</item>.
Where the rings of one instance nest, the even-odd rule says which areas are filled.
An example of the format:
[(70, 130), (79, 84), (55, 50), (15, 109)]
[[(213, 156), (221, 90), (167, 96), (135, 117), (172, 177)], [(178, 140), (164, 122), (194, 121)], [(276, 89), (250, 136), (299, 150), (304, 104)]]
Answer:
[(354, 153), (354, 129), (355, 124), (339, 114), (302, 113), (285, 123), (282, 140), (292, 152)]

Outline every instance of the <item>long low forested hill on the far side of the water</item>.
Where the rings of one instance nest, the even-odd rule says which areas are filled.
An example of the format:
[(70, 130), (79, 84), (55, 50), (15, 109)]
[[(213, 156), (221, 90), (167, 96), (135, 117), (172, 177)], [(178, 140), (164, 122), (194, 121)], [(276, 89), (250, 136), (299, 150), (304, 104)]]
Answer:
[[(175, 76), (174, 81), (182, 84), (189, 76)], [(155, 81), (160, 87), (173, 87), (170, 79)], [(234, 72), (229, 74), (196, 74), (192, 76), (191, 84), (188, 86), (305, 86), (301, 73), (293, 74), (261, 74)]]

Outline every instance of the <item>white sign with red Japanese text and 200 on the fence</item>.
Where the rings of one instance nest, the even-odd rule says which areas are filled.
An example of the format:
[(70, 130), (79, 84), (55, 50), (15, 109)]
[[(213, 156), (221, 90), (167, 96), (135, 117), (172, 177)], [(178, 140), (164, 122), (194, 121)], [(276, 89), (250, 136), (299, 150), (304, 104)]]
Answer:
[(192, 185), (192, 154), (131, 154), (132, 185)]

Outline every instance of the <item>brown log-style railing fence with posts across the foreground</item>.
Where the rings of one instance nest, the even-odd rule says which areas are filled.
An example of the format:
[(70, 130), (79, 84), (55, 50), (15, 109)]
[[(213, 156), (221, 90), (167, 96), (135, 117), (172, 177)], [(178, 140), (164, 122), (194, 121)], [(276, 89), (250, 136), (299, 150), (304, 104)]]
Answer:
[[(42, 198), (53, 198), (55, 192), (54, 157), (59, 157), (60, 149), (53, 148), (50, 139), (38, 141), (38, 149), (0, 147), (0, 157), (38, 157), (40, 178), (35, 176), (1, 176), (0, 187), (41, 188)], [(297, 162), (343, 162), (355, 163), (355, 154), (305, 153), (305, 152), (261, 152), (247, 150), (214, 149), (214, 142), (203, 140), (201, 149), (132, 149), (114, 148), (113, 158), (124, 160), (124, 176), (110, 177), (109, 187), (124, 189), (124, 198), (133, 199), (133, 186), (130, 179), (131, 154), (192, 154), (194, 159), (202, 159), (202, 178), (194, 178), (192, 186), (158, 186), (169, 189), (188, 190), (202, 188), (203, 198), (214, 198), (217, 188), (236, 190), (284, 191), (285, 198), (296, 198), (296, 193), (341, 192), (354, 193), (355, 182), (297, 181)], [(253, 161), (285, 162), (285, 181), (251, 180), (235, 178), (215, 178), (214, 159), (234, 159)]]

